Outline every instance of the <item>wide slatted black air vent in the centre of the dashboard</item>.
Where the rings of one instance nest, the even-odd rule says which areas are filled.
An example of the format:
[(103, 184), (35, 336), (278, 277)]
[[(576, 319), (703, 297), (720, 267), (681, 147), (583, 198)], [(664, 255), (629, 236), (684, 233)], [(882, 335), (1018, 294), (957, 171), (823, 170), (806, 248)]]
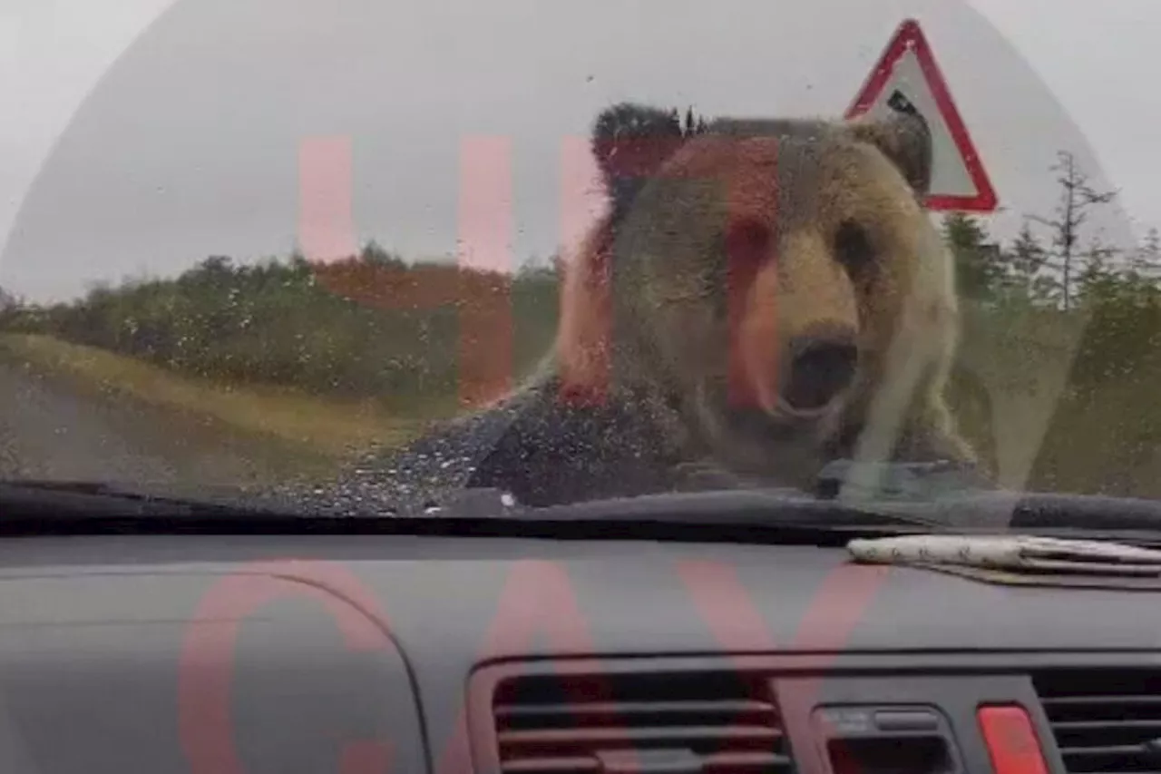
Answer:
[(737, 674), (522, 675), (492, 705), (503, 774), (792, 774), (765, 682)]

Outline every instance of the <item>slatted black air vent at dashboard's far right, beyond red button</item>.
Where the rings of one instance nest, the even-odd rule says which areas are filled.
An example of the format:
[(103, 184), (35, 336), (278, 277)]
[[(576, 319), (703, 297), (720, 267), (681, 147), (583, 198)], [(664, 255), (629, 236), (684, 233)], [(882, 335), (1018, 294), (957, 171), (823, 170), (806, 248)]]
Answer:
[(1161, 671), (1053, 671), (1033, 683), (1069, 774), (1161, 772)]

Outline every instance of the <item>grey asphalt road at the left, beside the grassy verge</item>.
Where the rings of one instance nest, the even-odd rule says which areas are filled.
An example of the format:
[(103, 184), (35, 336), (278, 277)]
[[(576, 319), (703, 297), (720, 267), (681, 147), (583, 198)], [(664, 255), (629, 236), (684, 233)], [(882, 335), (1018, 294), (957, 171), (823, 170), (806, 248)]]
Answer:
[(253, 487), (320, 474), (320, 465), (221, 422), (0, 357), (0, 479)]

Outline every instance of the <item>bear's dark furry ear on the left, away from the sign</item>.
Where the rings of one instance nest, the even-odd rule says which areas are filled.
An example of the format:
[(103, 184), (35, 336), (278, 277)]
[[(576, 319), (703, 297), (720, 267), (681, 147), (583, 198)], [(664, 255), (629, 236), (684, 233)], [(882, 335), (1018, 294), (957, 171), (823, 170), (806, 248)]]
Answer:
[(592, 152), (614, 212), (621, 212), (685, 142), (677, 110), (619, 102), (597, 116)]

